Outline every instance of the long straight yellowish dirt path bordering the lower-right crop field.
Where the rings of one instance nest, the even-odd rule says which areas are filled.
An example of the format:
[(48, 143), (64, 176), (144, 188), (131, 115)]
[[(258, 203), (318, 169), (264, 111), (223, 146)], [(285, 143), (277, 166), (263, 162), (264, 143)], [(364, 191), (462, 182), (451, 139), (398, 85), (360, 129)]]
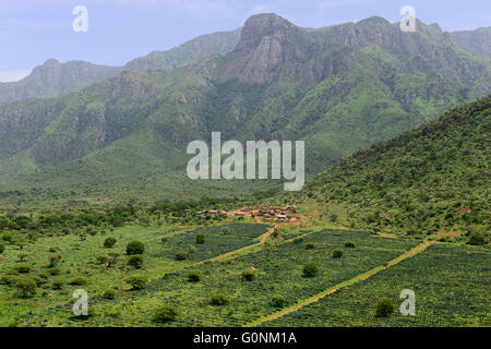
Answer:
[(261, 324), (263, 324), (265, 322), (273, 321), (273, 320), (276, 320), (278, 317), (285, 316), (285, 315), (287, 315), (289, 313), (296, 312), (296, 311), (298, 311), (299, 309), (301, 309), (301, 308), (303, 308), (306, 305), (309, 305), (311, 303), (318, 302), (320, 299), (336, 292), (340, 288), (348, 287), (348, 286), (351, 286), (354, 284), (363, 281), (363, 280), (368, 279), (369, 277), (378, 274), (379, 272), (385, 270), (385, 269), (390, 268), (391, 266), (396, 265), (396, 264), (403, 262), (404, 260), (409, 258), (409, 257), (411, 257), (411, 256), (414, 256), (414, 255), (424, 251), (431, 244), (432, 244), (432, 242), (426, 241), (426, 242), (417, 245), (416, 248), (412, 248), (411, 250), (403, 253), (402, 255), (395, 257), (394, 260), (390, 261), (386, 265), (380, 265), (378, 267), (374, 267), (373, 269), (371, 269), (371, 270), (369, 270), (367, 273), (360, 274), (360, 275), (358, 275), (358, 276), (349, 279), (349, 280), (346, 280), (346, 281), (343, 281), (340, 284), (337, 284), (337, 285), (328, 288), (327, 290), (322, 291), (321, 293), (312, 296), (312, 297), (310, 297), (310, 298), (308, 298), (308, 299), (297, 303), (294, 306), (284, 309), (284, 310), (282, 310), (279, 312), (276, 312), (276, 313), (271, 314), (268, 316), (265, 316), (265, 317), (259, 318), (259, 320), (256, 320), (254, 322), (251, 322), (251, 323), (244, 325), (244, 327), (254, 327), (254, 326), (261, 325)]

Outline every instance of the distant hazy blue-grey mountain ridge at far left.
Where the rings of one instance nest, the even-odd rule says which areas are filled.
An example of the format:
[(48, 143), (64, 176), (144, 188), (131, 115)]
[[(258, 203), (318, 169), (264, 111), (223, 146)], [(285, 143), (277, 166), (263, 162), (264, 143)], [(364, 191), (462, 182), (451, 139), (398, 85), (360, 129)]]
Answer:
[(49, 59), (19, 82), (0, 83), (0, 103), (67, 95), (113, 77), (120, 72), (121, 68), (118, 67), (96, 65), (84, 61), (60, 63), (56, 59)]

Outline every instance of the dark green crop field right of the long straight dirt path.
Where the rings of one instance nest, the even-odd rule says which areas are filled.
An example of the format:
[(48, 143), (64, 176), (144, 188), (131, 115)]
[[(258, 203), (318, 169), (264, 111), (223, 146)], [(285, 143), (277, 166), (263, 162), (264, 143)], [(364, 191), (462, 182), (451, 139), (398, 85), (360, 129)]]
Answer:
[[(363, 282), (263, 326), (491, 326), (491, 253), (488, 248), (433, 244)], [(416, 293), (416, 315), (403, 316), (403, 289)], [(388, 298), (396, 312), (375, 316)]]

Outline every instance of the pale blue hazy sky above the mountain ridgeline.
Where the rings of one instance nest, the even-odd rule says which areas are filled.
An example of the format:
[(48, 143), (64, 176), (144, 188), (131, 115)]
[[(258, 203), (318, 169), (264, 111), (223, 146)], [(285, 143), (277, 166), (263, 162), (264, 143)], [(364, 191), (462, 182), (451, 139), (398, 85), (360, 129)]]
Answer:
[[(88, 10), (86, 33), (72, 29), (75, 5)], [(0, 0), (0, 81), (22, 77), (48, 58), (121, 65), (202, 34), (237, 28), (255, 13), (320, 27), (371, 15), (398, 22), (403, 5), (444, 31), (491, 25), (489, 0)]]

